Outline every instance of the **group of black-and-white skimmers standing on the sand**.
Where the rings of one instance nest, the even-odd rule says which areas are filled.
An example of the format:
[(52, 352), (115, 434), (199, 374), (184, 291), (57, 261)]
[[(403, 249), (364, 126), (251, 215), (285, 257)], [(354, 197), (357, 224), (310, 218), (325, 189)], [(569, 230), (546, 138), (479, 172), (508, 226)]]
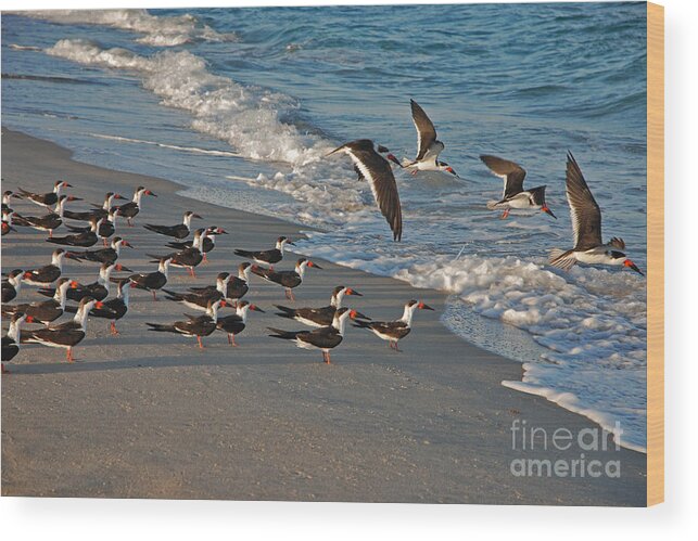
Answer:
[[(242, 299), (250, 291), (251, 274), (283, 287), (285, 297), (295, 300), (293, 289), (303, 283), (306, 269), (321, 269), (307, 258), (300, 258), (293, 270), (275, 269), (275, 265), (283, 260), (285, 247), (293, 245), (291, 240), (280, 236), (276, 246), (270, 249), (236, 249), (237, 256), (250, 260), (238, 266), (237, 275), (220, 272), (215, 285), (189, 287), (186, 292), (168, 289), (166, 285), (170, 267), (186, 269), (192, 278), (195, 278), (195, 268), (205, 261), (207, 254), (214, 249), (216, 236), (227, 232), (217, 226), (192, 230), (191, 221), (202, 218), (193, 211), (186, 211), (182, 222), (175, 226), (147, 223), (143, 226), (147, 230), (170, 239), (166, 247), (174, 252), (167, 255), (148, 254), (150, 261), (157, 263), (157, 270), (136, 273), (118, 262), (122, 248), (132, 248), (132, 246), (122, 236), (115, 235), (116, 218), (125, 217), (128, 226), (132, 227), (134, 219), (142, 208), (142, 197), (156, 195), (151, 190), (139, 186), (134, 193), (132, 201), (116, 206), (113, 204), (114, 199), (124, 197), (109, 192), (102, 205), (92, 205), (93, 208), (90, 210), (75, 212), (67, 210), (65, 204), (81, 201), (81, 198), (63, 194), (62, 191), (66, 188), (72, 186), (65, 181), (58, 181), (53, 191), (48, 193), (31, 193), (18, 189), (16, 193), (5, 191), (2, 194), (2, 235), (16, 231), (16, 227), (33, 228), (48, 232), (46, 242), (64, 246), (54, 249), (49, 265), (38, 269), (15, 269), (3, 280), (2, 315), (10, 318), (8, 334), (2, 337), (3, 362), (12, 360), (24, 344), (63, 348), (66, 350), (67, 361), (73, 362), (75, 360), (73, 348), (86, 337), (88, 318), (109, 320), (111, 334), (119, 334), (116, 323), (129, 311), (131, 288), (150, 292), (153, 300), (157, 300), (157, 292), (162, 292), (168, 300), (203, 312), (196, 315), (185, 314), (185, 320), (167, 324), (147, 323), (149, 330), (194, 337), (200, 348), (204, 347), (202, 338), (218, 330), (227, 334), (231, 346), (237, 346), (234, 338), (244, 331), (249, 311), (264, 312), (256, 305)], [(49, 211), (42, 216), (21, 215), (10, 206), (16, 198), (35, 203)], [(66, 220), (88, 222), (89, 226), (71, 226)], [(54, 230), (61, 226), (67, 228), (71, 234), (54, 236)], [(100, 240), (103, 247), (92, 248)], [(99, 263), (98, 279), (92, 283), (81, 284), (66, 278), (63, 272), (65, 259)], [(112, 275), (114, 271), (129, 274), (114, 276)], [(38, 287), (38, 293), (50, 299), (10, 304), (17, 297), (23, 284)], [(112, 284), (116, 284), (115, 296), (107, 298), (112, 293)], [(330, 350), (342, 343), (347, 320), (354, 320), (357, 327), (372, 331), (380, 338), (388, 340), (391, 348), (399, 351), (397, 343), (409, 334), (415, 311), (433, 310), (424, 302), (410, 300), (405, 305), (401, 319), (372, 321), (357, 310), (342, 307), (343, 298), (347, 295), (360, 296), (361, 294), (355, 288), (340, 285), (333, 289), (330, 305), (325, 307), (290, 308), (275, 305), (278, 310), (277, 315), (313, 329), (284, 331), (268, 327), (271, 332), (270, 336), (293, 340), (301, 348), (320, 349), (323, 361), (330, 363)], [(67, 301), (76, 304), (69, 305)], [(234, 313), (220, 315), (219, 309), (226, 306), (234, 308)], [(67, 321), (56, 323), (64, 313), (74, 315)], [(43, 326), (22, 329), (26, 323), (43, 324)], [(4, 364), (2, 371), (3, 373), (7, 371)]]

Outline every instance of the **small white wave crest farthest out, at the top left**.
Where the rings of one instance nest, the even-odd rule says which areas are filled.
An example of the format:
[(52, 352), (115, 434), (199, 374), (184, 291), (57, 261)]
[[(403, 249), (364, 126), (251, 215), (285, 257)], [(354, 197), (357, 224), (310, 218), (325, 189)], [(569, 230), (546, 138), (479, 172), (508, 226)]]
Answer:
[(103, 25), (142, 34), (137, 41), (154, 47), (175, 47), (194, 40), (233, 41), (233, 34), (218, 34), (196, 17), (156, 16), (145, 10), (48, 10), (20, 12), (24, 16), (60, 24)]

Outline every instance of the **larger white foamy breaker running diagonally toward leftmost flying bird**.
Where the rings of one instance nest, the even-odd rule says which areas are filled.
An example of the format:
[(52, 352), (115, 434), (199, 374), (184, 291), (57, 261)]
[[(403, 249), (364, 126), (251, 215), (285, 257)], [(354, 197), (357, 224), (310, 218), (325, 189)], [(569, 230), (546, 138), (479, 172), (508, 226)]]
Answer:
[(292, 98), (239, 85), (208, 72), (206, 62), (188, 51), (141, 56), (122, 48), (103, 49), (83, 39), (63, 39), (46, 51), (86, 65), (137, 73), (143, 87), (164, 105), (189, 112), (192, 128), (229, 143), (240, 156), (303, 166), (330, 150), (279, 117), (299, 107)]

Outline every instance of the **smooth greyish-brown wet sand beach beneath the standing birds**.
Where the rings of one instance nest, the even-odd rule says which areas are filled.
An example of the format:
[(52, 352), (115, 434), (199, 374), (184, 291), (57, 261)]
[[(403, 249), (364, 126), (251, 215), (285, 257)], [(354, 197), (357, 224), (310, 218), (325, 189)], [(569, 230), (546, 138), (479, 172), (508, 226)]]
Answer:
[[(134, 244), (119, 261), (154, 270), (147, 253), (167, 253), (165, 237), (142, 228), (175, 223), (187, 209), (203, 223), (230, 232), (217, 240), (211, 262), (191, 279), (170, 271), (169, 286), (185, 291), (233, 272), (234, 248), (269, 245), (278, 235), (299, 237), (297, 226), (177, 195), (167, 180), (74, 162), (71, 152), (20, 132), (2, 131), (2, 188), (48, 191), (56, 179), (71, 193), (101, 202), (106, 191), (130, 198), (142, 184), (147, 198), (137, 227), (119, 222)], [(71, 209), (84, 209), (86, 202)], [(20, 212), (38, 215), (17, 202)], [(305, 228), (307, 229), (307, 228)], [(65, 230), (56, 231), (56, 235)], [(2, 239), (2, 270), (36, 268), (50, 260), (45, 234), (20, 229)], [(278, 268), (291, 268), (290, 254)], [(417, 298), (435, 312), (416, 314), (404, 352), (366, 331), (348, 329), (344, 343), (321, 363), (319, 352), (267, 336), (267, 326), (300, 330), (274, 315), (289, 305), (281, 288), (252, 278), (245, 297), (267, 313), (252, 313), (231, 348), (216, 332), (195, 340), (149, 333), (145, 322), (172, 322), (185, 307), (131, 294), (130, 309), (112, 337), (105, 320), (91, 319), (88, 336), (68, 364), (64, 352), (27, 346), (2, 377), (2, 494), (36, 497), (185, 498), (232, 500), (368, 501), (563, 505), (644, 505), (646, 456), (625, 449), (584, 451), (513, 449), (512, 423), (553, 433), (598, 429), (581, 415), (540, 397), (502, 386), (522, 369), (479, 349), (440, 322), (445, 295), (415, 289), (318, 260), (290, 306), (325, 306), (337, 285), (357, 288), (347, 306), (376, 320), (402, 314)], [(96, 279), (97, 265), (66, 261), (64, 275)], [(16, 301), (40, 297), (25, 286)], [(228, 309), (224, 309), (227, 313)], [(3, 333), (7, 323), (3, 322)], [(619, 461), (619, 478), (524, 476), (520, 459)]]

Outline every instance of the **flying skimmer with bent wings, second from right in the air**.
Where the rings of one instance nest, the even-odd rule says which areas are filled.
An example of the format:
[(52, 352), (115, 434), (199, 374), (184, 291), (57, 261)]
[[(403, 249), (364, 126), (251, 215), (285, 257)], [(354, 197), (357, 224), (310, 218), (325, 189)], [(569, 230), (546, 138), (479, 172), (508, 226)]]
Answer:
[(553, 210), (550, 210), (545, 203), (546, 186), (536, 186), (530, 190), (523, 189), (523, 179), (525, 178), (525, 169), (523, 169), (523, 167), (497, 156), (482, 155), (480, 159), (495, 176), (504, 179), (502, 199), (487, 203), (490, 210), (504, 210), (502, 218), (505, 219), (509, 216), (509, 211), (512, 208), (541, 209), (543, 212), (557, 219), (557, 216), (553, 214)]

